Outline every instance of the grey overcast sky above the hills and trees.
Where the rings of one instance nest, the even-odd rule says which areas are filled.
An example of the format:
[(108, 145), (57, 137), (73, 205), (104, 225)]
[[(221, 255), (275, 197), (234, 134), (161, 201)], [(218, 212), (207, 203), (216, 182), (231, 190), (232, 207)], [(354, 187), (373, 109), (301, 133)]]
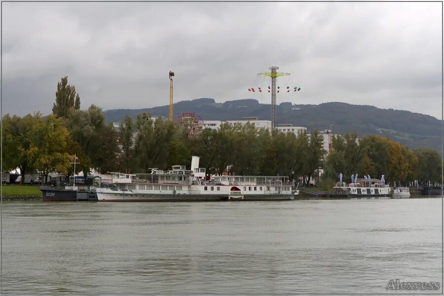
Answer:
[[(442, 3), (2, 3), (3, 114), (48, 114), (68, 75), (81, 109), (174, 100), (345, 102), (441, 119)], [(192, 111), (192, 110), (190, 110)], [(212, 118), (204, 118), (212, 119)], [(263, 118), (267, 119), (267, 118)]]

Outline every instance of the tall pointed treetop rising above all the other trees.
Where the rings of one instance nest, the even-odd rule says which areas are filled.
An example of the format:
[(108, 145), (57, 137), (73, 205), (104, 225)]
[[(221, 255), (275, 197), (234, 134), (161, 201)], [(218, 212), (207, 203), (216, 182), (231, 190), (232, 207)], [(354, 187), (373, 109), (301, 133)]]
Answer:
[(74, 110), (80, 110), (80, 97), (75, 93), (74, 85), (68, 84), (68, 76), (65, 76), (57, 83), (52, 113), (67, 118)]

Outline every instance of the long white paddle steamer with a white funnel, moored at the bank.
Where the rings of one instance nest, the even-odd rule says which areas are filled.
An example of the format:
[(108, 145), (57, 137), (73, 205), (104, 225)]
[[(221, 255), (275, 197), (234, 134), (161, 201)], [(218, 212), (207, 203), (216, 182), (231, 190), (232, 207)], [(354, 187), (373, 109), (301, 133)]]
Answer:
[(293, 200), (292, 184), (281, 176), (214, 176), (193, 156), (191, 169), (151, 169), (151, 174), (111, 173), (109, 188), (97, 188), (98, 201)]

